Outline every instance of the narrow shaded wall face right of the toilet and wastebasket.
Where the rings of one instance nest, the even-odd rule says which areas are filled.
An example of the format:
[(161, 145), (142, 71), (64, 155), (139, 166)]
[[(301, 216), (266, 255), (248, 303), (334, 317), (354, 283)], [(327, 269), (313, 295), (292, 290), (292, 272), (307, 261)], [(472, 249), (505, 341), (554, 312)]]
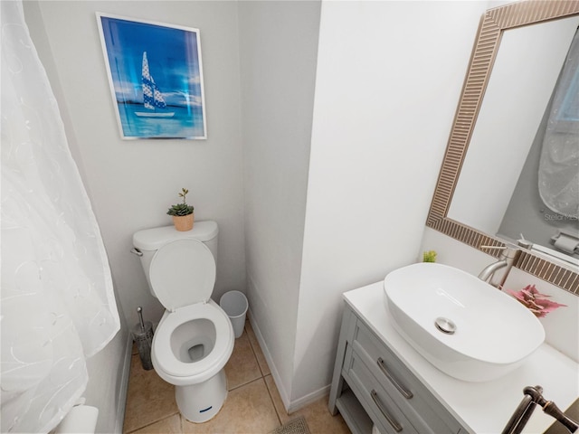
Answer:
[(240, 3), (248, 296), (285, 402), (298, 321), (319, 10), (317, 0)]

